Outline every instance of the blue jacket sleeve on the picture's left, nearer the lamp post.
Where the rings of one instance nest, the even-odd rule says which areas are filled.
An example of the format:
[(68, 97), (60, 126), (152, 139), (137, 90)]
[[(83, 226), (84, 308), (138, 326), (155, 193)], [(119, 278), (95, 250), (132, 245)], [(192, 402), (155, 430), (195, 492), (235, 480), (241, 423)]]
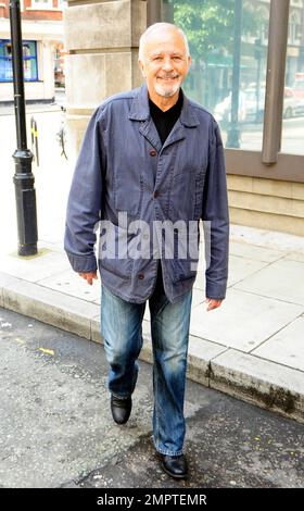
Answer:
[(92, 115), (76, 162), (67, 200), (64, 249), (75, 272), (97, 270), (96, 230), (102, 197), (101, 129)]

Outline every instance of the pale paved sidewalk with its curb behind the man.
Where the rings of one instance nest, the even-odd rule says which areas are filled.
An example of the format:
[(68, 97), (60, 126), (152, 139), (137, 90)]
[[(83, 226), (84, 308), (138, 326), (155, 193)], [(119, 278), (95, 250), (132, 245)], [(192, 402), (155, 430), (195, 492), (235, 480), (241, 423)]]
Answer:
[[(79, 278), (60, 242), (34, 258), (2, 249), (0, 262), (1, 307), (102, 341), (100, 281)], [(232, 225), (223, 306), (206, 312), (203, 271), (194, 285), (189, 378), (304, 423), (303, 284), (304, 238)], [(148, 307), (143, 336), (151, 362)]]

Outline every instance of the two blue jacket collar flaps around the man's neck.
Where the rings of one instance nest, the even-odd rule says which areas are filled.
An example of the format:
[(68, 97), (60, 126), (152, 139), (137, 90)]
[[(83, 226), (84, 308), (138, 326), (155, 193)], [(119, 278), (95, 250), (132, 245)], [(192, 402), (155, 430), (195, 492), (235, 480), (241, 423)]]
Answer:
[[(139, 89), (137, 89), (132, 99), (129, 119), (131, 121), (148, 121), (150, 117), (148, 88), (147, 85), (143, 84)], [(195, 111), (185, 94), (179, 121), (187, 127), (195, 127), (200, 124)]]

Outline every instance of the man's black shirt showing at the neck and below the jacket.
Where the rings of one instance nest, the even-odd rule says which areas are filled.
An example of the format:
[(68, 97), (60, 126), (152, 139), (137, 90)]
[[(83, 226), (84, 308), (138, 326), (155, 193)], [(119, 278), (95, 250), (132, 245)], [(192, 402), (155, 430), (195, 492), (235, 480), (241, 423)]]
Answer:
[[(176, 121), (178, 120), (181, 109), (182, 109), (182, 92), (179, 91), (178, 100), (177, 102), (166, 112), (163, 112), (151, 99), (149, 99), (149, 105), (150, 105), (150, 113), (151, 117), (153, 119), (153, 122), (156, 126), (157, 133), (160, 135), (160, 139), (162, 145), (164, 145), (165, 140), (169, 136)], [(155, 177), (155, 176), (154, 176)], [(162, 265), (160, 264), (159, 260), (159, 266), (157, 266), (157, 279), (156, 279), (156, 285), (154, 292), (156, 294), (164, 294), (164, 285), (163, 285), (163, 272), (162, 272)]]

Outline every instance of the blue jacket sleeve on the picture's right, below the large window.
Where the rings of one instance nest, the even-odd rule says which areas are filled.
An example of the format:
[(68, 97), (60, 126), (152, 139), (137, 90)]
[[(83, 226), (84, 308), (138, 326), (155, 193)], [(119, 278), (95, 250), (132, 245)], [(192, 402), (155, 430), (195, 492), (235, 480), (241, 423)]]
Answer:
[(224, 147), (217, 123), (213, 120), (210, 137), (202, 220), (205, 237), (207, 298), (226, 297), (229, 257), (229, 210)]

